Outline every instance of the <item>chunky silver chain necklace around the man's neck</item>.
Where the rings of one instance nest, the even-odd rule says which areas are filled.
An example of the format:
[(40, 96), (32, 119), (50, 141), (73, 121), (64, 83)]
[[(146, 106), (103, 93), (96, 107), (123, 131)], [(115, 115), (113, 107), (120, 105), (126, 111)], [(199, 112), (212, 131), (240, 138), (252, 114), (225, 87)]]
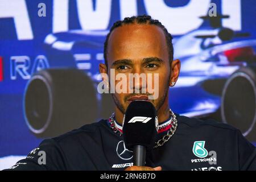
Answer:
[[(170, 109), (170, 115), (171, 115), (172, 126), (170, 127), (170, 129), (168, 130), (166, 135), (164, 135), (161, 139), (159, 139), (157, 142), (155, 142), (154, 148), (163, 146), (164, 143), (166, 143), (172, 137), (172, 135), (174, 135), (174, 133), (177, 129), (176, 115), (174, 114), (174, 112), (171, 109)], [(109, 118), (110, 128), (114, 131), (114, 133), (117, 133), (117, 134), (119, 134), (119, 136), (122, 137), (123, 134), (115, 126), (114, 117), (115, 117), (115, 114), (112, 113), (111, 117)]]

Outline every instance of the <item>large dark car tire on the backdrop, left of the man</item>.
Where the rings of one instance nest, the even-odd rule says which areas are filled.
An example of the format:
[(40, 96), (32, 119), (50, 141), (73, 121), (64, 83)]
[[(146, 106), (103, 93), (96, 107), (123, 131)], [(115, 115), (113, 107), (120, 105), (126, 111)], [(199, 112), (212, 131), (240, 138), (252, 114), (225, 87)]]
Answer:
[(39, 138), (55, 137), (97, 118), (96, 89), (78, 69), (45, 69), (27, 82), (23, 113)]

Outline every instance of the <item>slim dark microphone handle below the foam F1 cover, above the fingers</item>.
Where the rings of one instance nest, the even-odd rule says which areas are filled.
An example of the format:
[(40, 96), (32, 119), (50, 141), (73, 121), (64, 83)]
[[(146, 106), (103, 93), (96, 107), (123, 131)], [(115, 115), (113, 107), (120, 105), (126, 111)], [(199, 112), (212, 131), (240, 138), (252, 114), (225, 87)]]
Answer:
[(145, 166), (146, 147), (137, 145), (133, 147), (133, 163), (134, 166)]

